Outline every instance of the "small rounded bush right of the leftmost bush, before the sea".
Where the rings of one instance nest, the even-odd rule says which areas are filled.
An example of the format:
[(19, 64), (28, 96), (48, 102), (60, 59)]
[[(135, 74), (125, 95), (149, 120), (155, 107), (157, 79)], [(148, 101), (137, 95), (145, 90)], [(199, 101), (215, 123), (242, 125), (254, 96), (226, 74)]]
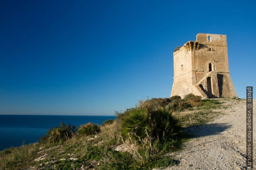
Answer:
[(84, 125), (81, 125), (80, 129), (77, 130), (77, 132), (81, 135), (94, 135), (100, 132), (100, 126), (95, 123), (86, 123)]

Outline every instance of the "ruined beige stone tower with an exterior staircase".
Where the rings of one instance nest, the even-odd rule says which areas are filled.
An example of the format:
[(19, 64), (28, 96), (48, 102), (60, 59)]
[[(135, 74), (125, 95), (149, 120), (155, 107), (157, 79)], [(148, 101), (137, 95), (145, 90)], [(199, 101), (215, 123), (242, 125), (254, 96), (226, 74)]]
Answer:
[(231, 81), (226, 35), (197, 34), (173, 53), (171, 97), (192, 93), (203, 98), (237, 97)]

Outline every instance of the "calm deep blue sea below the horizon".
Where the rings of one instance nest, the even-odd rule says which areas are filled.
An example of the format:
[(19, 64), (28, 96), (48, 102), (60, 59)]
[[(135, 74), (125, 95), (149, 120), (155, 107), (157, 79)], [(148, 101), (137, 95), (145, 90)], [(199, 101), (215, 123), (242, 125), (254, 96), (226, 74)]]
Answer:
[(0, 150), (17, 147), (39, 140), (48, 129), (61, 122), (79, 126), (88, 122), (101, 124), (115, 116), (46, 116), (46, 115), (0, 115)]

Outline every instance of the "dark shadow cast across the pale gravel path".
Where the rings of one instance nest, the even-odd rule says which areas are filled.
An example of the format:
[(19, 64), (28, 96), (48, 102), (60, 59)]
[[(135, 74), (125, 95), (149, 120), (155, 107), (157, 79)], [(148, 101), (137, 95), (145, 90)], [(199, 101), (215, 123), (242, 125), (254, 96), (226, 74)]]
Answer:
[(205, 125), (189, 126), (185, 128), (184, 132), (189, 134), (191, 138), (198, 138), (202, 136), (218, 135), (231, 127), (232, 125), (227, 123), (210, 123)]

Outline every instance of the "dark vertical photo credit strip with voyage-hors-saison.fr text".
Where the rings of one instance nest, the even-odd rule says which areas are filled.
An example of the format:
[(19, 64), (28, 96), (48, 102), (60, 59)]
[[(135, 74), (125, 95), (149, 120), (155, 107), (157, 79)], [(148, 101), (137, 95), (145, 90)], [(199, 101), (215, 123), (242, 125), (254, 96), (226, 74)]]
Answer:
[(252, 86), (246, 87), (246, 166), (252, 167)]

